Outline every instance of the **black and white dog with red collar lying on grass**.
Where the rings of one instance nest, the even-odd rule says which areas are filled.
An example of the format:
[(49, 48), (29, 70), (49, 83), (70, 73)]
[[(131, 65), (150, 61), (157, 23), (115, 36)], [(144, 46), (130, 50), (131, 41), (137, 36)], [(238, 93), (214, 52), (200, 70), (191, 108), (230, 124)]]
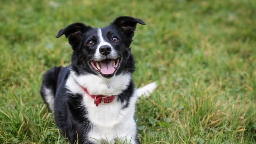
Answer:
[(145, 24), (121, 16), (107, 27), (73, 23), (57, 34), (68, 38), (72, 63), (45, 73), (41, 95), (71, 143), (139, 143), (135, 103), (157, 85), (135, 89), (132, 81), (130, 45), (137, 23)]

